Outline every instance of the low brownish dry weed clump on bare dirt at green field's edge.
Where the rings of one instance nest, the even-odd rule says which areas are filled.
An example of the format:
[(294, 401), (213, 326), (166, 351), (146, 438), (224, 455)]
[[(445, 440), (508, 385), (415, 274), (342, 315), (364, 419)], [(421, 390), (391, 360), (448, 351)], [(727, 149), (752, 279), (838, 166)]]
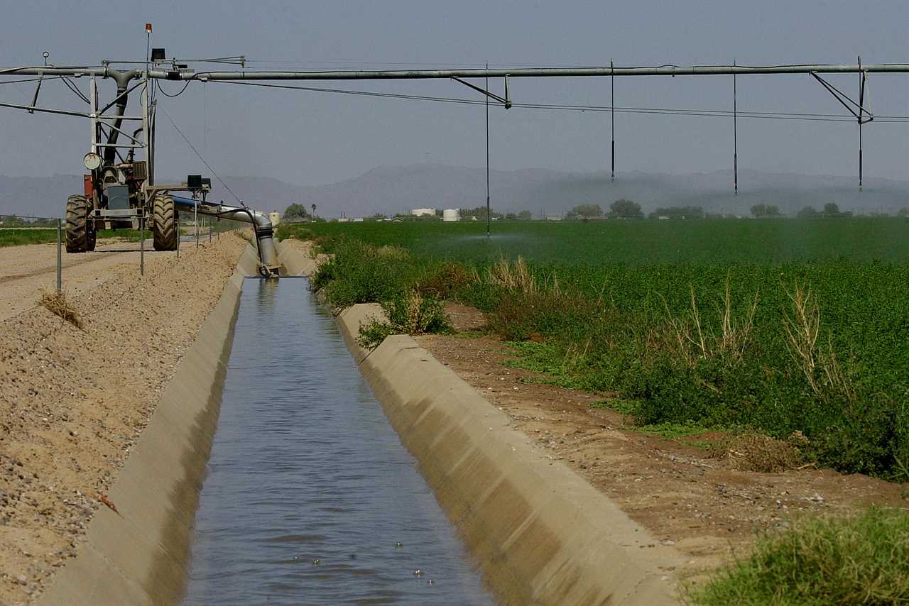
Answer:
[(729, 461), (741, 472), (774, 473), (797, 468), (804, 461), (799, 445), (804, 436), (776, 440), (758, 432), (745, 432), (714, 446), (711, 457)]

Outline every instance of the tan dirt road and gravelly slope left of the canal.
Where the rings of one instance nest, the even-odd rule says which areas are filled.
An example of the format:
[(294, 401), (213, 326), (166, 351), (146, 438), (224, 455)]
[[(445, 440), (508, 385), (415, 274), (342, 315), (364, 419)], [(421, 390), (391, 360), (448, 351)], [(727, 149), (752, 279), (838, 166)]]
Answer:
[(138, 243), (64, 253), (82, 328), (36, 303), (54, 244), (0, 249), (0, 604), (31, 601), (116, 507), (107, 489), (245, 246), (146, 253), (145, 278)]

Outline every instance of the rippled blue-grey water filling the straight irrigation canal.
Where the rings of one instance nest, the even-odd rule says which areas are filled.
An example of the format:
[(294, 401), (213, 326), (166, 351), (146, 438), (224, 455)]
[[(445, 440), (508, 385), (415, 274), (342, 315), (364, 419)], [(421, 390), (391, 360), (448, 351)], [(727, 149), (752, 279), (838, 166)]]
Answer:
[(244, 284), (192, 550), (185, 604), (492, 603), (303, 279)]

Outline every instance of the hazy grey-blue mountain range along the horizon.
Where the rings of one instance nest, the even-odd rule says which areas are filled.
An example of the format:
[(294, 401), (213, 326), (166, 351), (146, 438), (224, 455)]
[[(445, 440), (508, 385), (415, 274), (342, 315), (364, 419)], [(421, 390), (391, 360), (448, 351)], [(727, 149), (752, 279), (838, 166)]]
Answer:
[[(226, 177), (230, 191), (253, 208), (283, 211), (289, 204), (312, 204), (326, 217), (395, 214), (411, 208), (464, 208), (484, 205), (486, 172), (440, 164), (380, 166), (353, 179), (327, 185), (295, 185), (269, 177)], [(732, 171), (699, 174), (565, 173), (545, 169), (492, 171), (492, 204), (500, 212), (529, 210), (534, 216), (563, 214), (577, 204), (628, 198), (644, 207), (696, 205), (707, 212), (748, 214), (752, 204), (776, 204), (784, 214), (833, 202), (855, 213), (894, 212), (909, 206), (909, 181), (866, 179), (858, 191), (854, 177), (740, 171), (733, 195)], [(0, 214), (61, 216), (66, 196), (82, 190), (82, 176), (0, 176)], [(215, 181), (210, 199), (233, 203)]]

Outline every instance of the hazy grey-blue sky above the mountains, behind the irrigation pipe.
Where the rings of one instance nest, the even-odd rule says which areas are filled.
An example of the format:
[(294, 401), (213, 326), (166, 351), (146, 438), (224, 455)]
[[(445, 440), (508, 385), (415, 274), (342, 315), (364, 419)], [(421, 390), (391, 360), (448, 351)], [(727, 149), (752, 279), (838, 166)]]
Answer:
[[(742, 65), (909, 62), (909, 4), (734, 0), (704, 2), (5, 2), (0, 66), (145, 55), (246, 55), (251, 67), (340, 69), (388, 66)], [(279, 63), (283, 62), (283, 63)], [(406, 65), (404, 65), (406, 64)], [(831, 76), (850, 94), (857, 75)], [(2, 79), (0, 79), (2, 80)], [(87, 90), (86, 80), (80, 81)], [(115, 84), (103, 81), (105, 94)], [(175, 83), (162, 83), (169, 92)], [(872, 75), (875, 114), (909, 114), (909, 75)], [(325, 84), (315, 84), (325, 85)], [(451, 81), (328, 83), (395, 93), (479, 98)], [(491, 82), (501, 91), (502, 82)], [(609, 81), (512, 81), (515, 101), (608, 104)], [(0, 84), (0, 101), (28, 103), (34, 84)], [(808, 75), (738, 79), (741, 111), (842, 113)], [(221, 174), (325, 184), (382, 164), (484, 164), (482, 106), (190, 84), (161, 107)], [(62, 83), (40, 104), (80, 108)], [(616, 104), (732, 108), (732, 76), (616, 78)], [(84, 104), (83, 104), (84, 106)], [(161, 115), (158, 174), (204, 172)], [(732, 167), (732, 120), (616, 114), (617, 170), (690, 173)], [(491, 163), (502, 170), (608, 168), (609, 114), (514, 108), (491, 112)], [(0, 108), (0, 174), (82, 172), (85, 119)], [(855, 124), (739, 121), (739, 166), (806, 174), (856, 172)], [(909, 124), (864, 128), (869, 177), (904, 178)], [(743, 184), (746, 187), (746, 184)]]

